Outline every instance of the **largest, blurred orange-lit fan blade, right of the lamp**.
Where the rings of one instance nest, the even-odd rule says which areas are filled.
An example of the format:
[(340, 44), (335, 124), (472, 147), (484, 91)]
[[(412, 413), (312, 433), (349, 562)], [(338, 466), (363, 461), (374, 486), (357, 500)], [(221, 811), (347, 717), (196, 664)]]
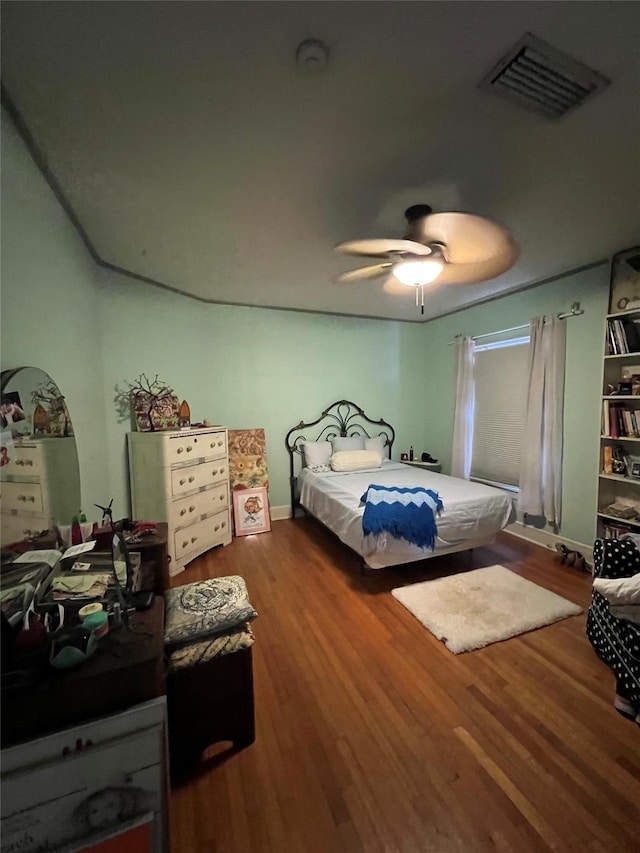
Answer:
[(432, 213), (412, 223), (410, 236), (425, 242), (444, 243), (445, 256), (451, 264), (474, 264), (496, 257), (513, 257), (513, 264), (518, 253), (506, 228), (492, 219), (471, 213)]

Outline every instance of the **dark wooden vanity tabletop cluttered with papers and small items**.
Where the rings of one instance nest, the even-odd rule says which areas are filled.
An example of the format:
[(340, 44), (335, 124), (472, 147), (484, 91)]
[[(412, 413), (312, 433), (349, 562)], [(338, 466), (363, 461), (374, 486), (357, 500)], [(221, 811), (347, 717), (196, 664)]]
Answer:
[[(14, 618), (11, 627), (4, 618), (3, 604), (3, 748), (84, 720), (115, 713), (164, 694), (164, 599), (161, 596), (168, 587), (166, 524), (155, 525), (155, 530), (147, 531), (140, 537), (140, 541), (132, 542), (129, 547), (132, 552), (134, 549), (140, 552), (138, 565), (146, 569), (146, 572), (141, 573), (140, 584), (153, 595), (150, 594), (145, 600), (144, 609), (129, 606), (128, 612), (117, 621), (113, 618), (112, 601), (107, 603), (105, 599), (104, 605), (93, 605), (96, 610), (104, 606), (104, 610), (109, 611), (108, 618), (105, 618), (106, 612), (102, 613), (104, 625), (99, 632), (95, 632), (98, 636), (86, 638), (92, 643), (91, 654), (83, 658), (79, 665), (56, 668), (52, 660), (55, 658), (56, 642), (61, 643), (60, 636), (68, 631), (80, 633), (81, 626), (88, 624), (86, 620), (82, 622), (79, 612), (83, 600), (89, 599), (80, 596), (80, 600), (75, 601), (72, 594), (68, 597), (60, 594), (54, 596), (53, 581), (49, 578), (43, 584), (46, 592), (42, 596), (34, 595), (29, 606), (31, 613), (22, 615), (23, 622)], [(37, 551), (31, 553), (38, 554)], [(97, 560), (99, 557), (99, 554), (95, 554), (91, 559)], [(107, 555), (103, 554), (102, 557), (106, 561)], [(46, 568), (45, 564), (37, 562), (3, 563), (2, 577), (10, 577), (20, 565), (25, 570), (31, 567), (35, 570), (40, 565), (41, 573)], [(114, 571), (113, 565), (111, 570)], [(71, 578), (73, 572), (62, 573), (56, 566), (52, 574), (59, 590), (60, 579), (64, 588), (67, 583), (65, 577)], [(64, 609), (64, 628), (58, 628), (56, 624), (61, 608)], [(44, 640), (33, 642), (31, 647), (27, 644), (26, 649), (23, 643), (19, 653), (14, 651), (9, 657), (7, 649), (20, 646), (19, 640), (24, 641), (25, 636), (29, 639), (30, 633), (35, 636), (35, 629), (45, 632)], [(11, 642), (7, 642), (7, 638)], [(87, 650), (88, 646), (82, 648)]]

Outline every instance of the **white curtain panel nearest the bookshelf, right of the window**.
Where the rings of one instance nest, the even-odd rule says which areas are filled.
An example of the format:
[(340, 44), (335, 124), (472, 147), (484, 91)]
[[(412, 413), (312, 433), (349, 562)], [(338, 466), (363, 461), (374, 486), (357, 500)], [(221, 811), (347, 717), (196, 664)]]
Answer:
[(566, 326), (555, 317), (530, 326), (529, 393), (518, 510), (560, 526)]

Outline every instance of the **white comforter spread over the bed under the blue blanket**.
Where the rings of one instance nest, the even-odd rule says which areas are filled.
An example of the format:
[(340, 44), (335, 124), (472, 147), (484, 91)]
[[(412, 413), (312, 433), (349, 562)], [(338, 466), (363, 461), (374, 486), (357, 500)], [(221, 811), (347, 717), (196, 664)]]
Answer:
[[(385, 461), (382, 468), (356, 473), (330, 471), (314, 474), (303, 469), (300, 503), (332, 530), (342, 542), (364, 557), (371, 568), (424, 560), (439, 553), (458, 551), (491, 541), (515, 518), (509, 492), (434, 474), (421, 468)], [(372, 483), (381, 486), (422, 486), (438, 492), (444, 509), (436, 519), (436, 548), (418, 548), (388, 534), (364, 536), (360, 498)]]

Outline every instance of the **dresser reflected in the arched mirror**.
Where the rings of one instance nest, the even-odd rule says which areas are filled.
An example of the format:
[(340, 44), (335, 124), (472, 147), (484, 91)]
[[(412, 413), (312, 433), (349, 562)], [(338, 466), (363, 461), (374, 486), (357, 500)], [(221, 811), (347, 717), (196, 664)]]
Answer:
[(76, 441), (24, 438), (0, 468), (2, 543), (9, 544), (55, 524), (71, 524), (80, 511)]

